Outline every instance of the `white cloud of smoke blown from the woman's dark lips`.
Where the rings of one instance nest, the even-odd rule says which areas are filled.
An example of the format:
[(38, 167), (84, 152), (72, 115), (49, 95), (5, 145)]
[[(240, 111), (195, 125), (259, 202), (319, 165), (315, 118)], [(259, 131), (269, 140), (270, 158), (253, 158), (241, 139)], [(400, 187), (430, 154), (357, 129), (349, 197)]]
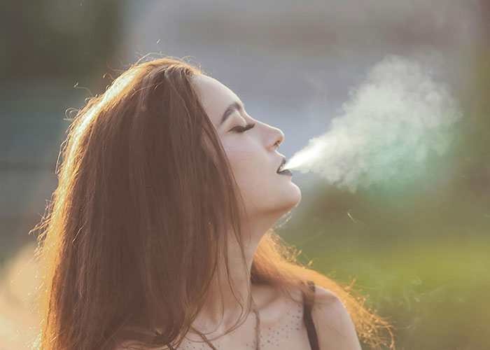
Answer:
[(400, 184), (423, 174), (431, 153), (448, 150), (460, 118), (454, 99), (428, 69), (388, 56), (351, 92), (331, 130), (310, 139), (284, 169), (315, 172), (351, 192)]

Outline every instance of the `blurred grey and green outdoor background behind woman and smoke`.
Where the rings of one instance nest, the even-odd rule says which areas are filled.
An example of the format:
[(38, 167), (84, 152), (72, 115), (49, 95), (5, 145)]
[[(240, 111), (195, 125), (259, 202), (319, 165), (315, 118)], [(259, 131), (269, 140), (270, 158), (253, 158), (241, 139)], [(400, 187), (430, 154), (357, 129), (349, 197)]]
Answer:
[(64, 119), (148, 52), (228, 85), (283, 130), (288, 158), (386, 55), (430, 66), (463, 112), (430, 186), (349, 193), (295, 172), (302, 202), (278, 232), (355, 281), (397, 349), (490, 349), (489, 1), (3, 0), (0, 29), (0, 349), (27, 349), (36, 327), (28, 232), (57, 186)]

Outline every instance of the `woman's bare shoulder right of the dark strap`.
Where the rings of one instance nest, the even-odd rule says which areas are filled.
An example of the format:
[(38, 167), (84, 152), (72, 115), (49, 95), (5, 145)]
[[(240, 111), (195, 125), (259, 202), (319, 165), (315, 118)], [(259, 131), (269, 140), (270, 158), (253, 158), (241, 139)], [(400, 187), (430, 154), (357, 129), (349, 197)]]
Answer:
[(360, 343), (349, 311), (342, 301), (321, 286), (315, 286), (311, 309), (320, 349), (360, 350)]

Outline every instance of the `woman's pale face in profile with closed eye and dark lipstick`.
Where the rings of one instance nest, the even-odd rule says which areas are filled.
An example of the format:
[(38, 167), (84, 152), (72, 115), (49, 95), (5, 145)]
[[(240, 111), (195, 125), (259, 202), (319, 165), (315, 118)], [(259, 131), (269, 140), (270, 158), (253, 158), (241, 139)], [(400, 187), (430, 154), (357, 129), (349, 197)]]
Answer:
[[(283, 160), (276, 151), (283, 132), (248, 116), (237, 95), (218, 80), (199, 75), (192, 81), (221, 139), (248, 218), (275, 223), (301, 200), (292, 176), (276, 173)], [(243, 128), (251, 124), (254, 126)]]

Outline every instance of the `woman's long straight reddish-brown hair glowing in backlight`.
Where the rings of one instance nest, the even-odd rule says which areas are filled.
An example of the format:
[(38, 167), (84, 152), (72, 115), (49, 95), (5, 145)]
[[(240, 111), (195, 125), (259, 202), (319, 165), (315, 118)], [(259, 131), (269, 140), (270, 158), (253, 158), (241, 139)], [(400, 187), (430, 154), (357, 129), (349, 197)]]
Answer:
[[(31, 230), (41, 231), (38, 349), (178, 346), (218, 257), (228, 269), (228, 228), (245, 256), (241, 198), (190, 80), (202, 71), (182, 59), (144, 58), (69, 119), (58, 186)], [(310, 279), (342, 300), (365, 343), (394, 347), (391, 325), (363, 306), (365, 297), (300, 263), (274, 229), (260, 240), (252, 283), (311, 293), (300, 283)]]

